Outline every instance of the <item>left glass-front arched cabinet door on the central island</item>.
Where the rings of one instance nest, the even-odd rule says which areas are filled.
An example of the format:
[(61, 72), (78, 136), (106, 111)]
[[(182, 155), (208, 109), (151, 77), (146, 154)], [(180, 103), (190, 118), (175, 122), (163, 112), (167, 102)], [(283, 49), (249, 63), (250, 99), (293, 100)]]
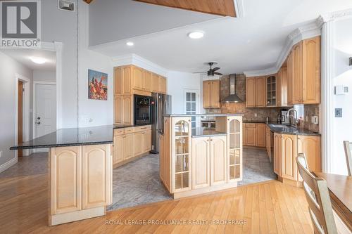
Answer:
[(172, 191), (191, 189), (191, 117), (172, 118)]

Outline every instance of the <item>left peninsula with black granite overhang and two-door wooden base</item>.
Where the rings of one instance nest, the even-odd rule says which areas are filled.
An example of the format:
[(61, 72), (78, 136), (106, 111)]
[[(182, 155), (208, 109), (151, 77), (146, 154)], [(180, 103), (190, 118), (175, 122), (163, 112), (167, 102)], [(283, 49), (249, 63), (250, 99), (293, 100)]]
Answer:
[(11, 147), (49, 148), (49, 226), (106, 214), (112, 202), (113, 126), (60, 129)]

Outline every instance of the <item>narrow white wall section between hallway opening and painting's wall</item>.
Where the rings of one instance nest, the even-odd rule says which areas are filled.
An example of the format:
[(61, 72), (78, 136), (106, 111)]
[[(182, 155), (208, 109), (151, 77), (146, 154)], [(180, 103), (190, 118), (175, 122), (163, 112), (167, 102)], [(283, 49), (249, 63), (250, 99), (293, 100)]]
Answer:
[[(77, 3), (77, 0), (73, 0)], [(82, 1), (80, 1), (82, 2)], [(58, 10), (57, 0), (42, 1), (42, 41), (63, 42), (62, 127), (77, 126), (77, 12)]]

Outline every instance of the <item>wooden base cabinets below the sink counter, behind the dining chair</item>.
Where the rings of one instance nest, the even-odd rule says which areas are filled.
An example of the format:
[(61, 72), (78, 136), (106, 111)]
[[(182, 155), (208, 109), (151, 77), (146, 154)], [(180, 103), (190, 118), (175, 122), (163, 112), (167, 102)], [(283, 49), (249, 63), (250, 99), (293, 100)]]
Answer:
[(296, 157), (304, 153), (308, 169), (321, 171), (320, 136), (274, 134), (274, 172), (279, 180), (301, 186)]

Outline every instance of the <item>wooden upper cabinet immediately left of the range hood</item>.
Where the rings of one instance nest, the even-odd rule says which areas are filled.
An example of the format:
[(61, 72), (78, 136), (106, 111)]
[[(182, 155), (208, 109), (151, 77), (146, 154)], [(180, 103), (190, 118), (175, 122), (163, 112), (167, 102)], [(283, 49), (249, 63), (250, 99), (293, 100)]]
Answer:
[(203, 108), (220, 108), (220, 80), (203, 82)]

